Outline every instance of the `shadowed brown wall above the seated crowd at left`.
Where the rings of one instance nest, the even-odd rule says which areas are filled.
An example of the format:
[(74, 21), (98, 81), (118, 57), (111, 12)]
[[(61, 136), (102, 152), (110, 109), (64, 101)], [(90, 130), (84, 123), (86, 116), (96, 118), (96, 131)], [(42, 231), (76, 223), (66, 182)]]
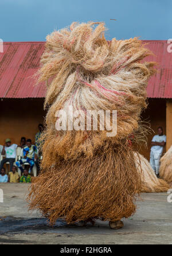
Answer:
[(44, 99), (3, 99), (0, 100), (0, 144), (10, 138), (19, 144), (21, 137), (31, 138), (38, 131), (38, 124), (44, 123), (46, 112)]

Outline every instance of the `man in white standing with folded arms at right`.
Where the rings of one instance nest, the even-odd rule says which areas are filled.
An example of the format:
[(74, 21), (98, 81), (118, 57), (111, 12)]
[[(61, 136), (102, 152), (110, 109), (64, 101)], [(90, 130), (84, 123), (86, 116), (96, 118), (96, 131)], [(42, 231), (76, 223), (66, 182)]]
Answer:
[(162, 127), (158, 127), (158, 135), (155, 135), (151, 143), (150, 165), (159, 178), (159, 163), (166, 145), (166, 135), (163, 134)]

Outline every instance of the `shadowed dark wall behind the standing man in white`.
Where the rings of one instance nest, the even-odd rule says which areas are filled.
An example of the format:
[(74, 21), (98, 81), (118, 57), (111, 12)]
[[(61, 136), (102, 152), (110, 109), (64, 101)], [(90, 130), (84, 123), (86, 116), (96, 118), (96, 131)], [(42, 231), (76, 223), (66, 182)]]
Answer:
[[(172, 110), (172, 109), (171, 109)], [(172, 116), (171, 116), (172, 117)], [(157, 134), (158, 126), (162, 126), (164, 134), (166, 134), (166, 100), (165, 99), (150, 99), (148, 100), (148, 107), (142, 113), (142, 120), (150, 122), (153, 131), (148, 135), (147, 149), (142, 148), (141, 152), (148, 160), (150, 159), (151, 141), (155, 134)], [(171, 119), (172, 122), (172, 119)], [(166, 152), (166, 148), (164, 153)]]

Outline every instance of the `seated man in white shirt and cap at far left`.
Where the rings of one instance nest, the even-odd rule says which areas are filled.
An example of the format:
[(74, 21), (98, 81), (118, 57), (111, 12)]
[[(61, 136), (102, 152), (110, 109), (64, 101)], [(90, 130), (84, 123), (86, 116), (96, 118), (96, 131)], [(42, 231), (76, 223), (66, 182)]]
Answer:
[(1, 161), (0, 170), (6, 162), (10, 163), (10, 171), (12, 171), (13, 163), (16, 157), (17, 144), (11, 144), (10, 139), (6, 139), (5, 146), (2, 149), (2, 155), (6, 155), (6, 158)]

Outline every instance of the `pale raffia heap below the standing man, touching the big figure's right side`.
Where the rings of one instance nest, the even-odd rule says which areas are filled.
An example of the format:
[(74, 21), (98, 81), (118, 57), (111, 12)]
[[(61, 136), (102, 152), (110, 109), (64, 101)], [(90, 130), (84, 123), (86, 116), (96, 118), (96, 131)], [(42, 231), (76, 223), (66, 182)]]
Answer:
[(167, 192), (170, 186), (163, 179), (158, 179), (155, 175), (150, 163), (142, 155), (135, 153), (136, 168), (138, 168), (139, 174), (142, 180), (143, 193), (161, 193)]

